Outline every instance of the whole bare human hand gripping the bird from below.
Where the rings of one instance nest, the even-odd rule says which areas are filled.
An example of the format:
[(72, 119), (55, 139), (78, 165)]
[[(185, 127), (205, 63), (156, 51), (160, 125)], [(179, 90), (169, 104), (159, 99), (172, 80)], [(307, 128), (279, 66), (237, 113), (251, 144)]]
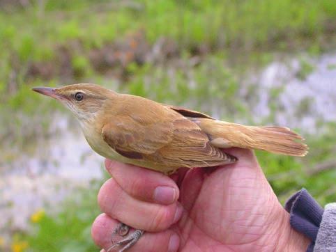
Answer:
[(104, 214), (93, 223), (96, 244), (109, 248), (121, 221), (148, 231), (129, 251), (306, 251), (310, 240), (290, 227), (254, 153), (225, 152), (238, 162), (171, 178), (107, 160), (113, 178), (98, 194)]

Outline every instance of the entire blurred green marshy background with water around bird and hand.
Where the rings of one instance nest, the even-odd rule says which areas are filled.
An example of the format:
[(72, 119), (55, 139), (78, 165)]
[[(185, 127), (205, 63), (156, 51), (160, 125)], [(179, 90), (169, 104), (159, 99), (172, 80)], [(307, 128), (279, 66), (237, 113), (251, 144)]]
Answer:
[(336, 201), (336, 1), (1, 0), (0, 251), (97, 251), (107, 174), (70, 113), (32, 86), (91, 82), (305, 136), (257, 152), (280, 201)]

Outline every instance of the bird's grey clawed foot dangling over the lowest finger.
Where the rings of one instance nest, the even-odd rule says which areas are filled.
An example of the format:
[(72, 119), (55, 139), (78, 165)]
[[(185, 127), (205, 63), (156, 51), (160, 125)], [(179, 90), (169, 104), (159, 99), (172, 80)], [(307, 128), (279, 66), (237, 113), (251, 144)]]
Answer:
[[(119, 225), (116, 227), (114, 230), (115, 235), (121, 233), (121, 236), (125, 236), (128, 234), (128, 231), (130, 230), (130, 227), (126, 226), (123, 223), (119, 223)], [(127, 249), (130, 249), (131, 246), (133, 246), (139, 239), (142, 237), (144, 234), (143, 230), (135, 230), (133, 233), (130, 235), (126, 236), (125, 238), (121, 239), (118, 242), (115, 242), (112, 246), (107, 249), (107, 252), (112, 251), (118, 246), (123, 246), (119, 252), (126, 251)], [(114, 234), (112, 234), (114, 235)], [(113, 240), (112, 240), (113, 242)]]

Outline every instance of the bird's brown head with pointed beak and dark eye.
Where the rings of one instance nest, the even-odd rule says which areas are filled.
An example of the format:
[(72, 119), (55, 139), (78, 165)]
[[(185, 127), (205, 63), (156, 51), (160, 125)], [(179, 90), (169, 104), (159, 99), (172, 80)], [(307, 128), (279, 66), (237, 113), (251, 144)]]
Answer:
[(95, 118), (105, 102), (116, 95), (112, 90), (95, 84), (74, 84), (61, 88), (36, 87), (33, 90), (66, 104), (81, 122)]

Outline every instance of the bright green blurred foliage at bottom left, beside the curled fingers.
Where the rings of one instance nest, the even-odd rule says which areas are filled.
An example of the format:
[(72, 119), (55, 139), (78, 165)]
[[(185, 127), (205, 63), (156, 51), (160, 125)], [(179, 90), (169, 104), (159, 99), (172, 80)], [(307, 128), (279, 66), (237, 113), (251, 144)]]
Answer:
[[(90, 190), (74, 192), (72, 200), (63, 203), (55, 216), (36, 221), (36, 235), (27, 237), (33, 251), (97, 251), (91, 239), (91, 224), (100, 213), (96, 207), (100, 183), (92, 182)], [(76, 198), (75, 202), (73, 198)]]

